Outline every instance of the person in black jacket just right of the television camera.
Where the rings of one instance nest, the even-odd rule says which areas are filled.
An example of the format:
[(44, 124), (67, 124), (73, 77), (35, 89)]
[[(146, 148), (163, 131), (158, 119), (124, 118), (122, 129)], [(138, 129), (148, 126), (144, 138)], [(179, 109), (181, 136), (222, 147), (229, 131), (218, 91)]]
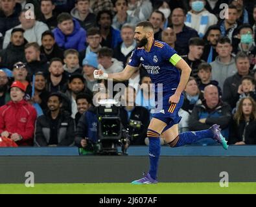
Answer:
[(150, 122), (150, 114), (145, 107), (136, 106), (136, 91), (128, 86), (124, 90), (120, 118), (124, 129), (129, 129), (131, 145), (145, 145), (146, 130)]

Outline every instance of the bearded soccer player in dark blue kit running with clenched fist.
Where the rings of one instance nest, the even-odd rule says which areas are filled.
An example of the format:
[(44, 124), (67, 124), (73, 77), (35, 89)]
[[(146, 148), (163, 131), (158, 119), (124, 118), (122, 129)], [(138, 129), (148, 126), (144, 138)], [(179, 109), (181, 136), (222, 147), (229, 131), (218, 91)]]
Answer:
[[(163, 109), (153, 114), (147, 131), (150, 170), (144, 174), (145, 177), (132, 182), (156, 184), (161, 133), (170, 147), (192, 144), (202, 138), (213, 138), (227, 149), (227, 142), (220, 133), (219, 125), (216, 124), (203, 131), (189, 131), (179, 135), (178, 123), (181, 117), (178, 116), (178, 111), (183, 104), (182, 92), (189, 80), (191, 68), (167, 43), (154, 39), (154, 27), (150, 22), (141, 21), (137, 24), (134, 39), (137, 41), (137, 49), (134, 50), (124, 71), (106, 74), (101, 70), (95, 70), (94, 76), (97, 79), (112, 78), (114, 81), (122, 82), (128, 80), (142, 64), (155, 83), (155, 97), (157, 93), (163, 93), (163, 100), (157, 100), (157, 103), (162, 101)], [(157, 83), (162, 83), (162, 87), (157, 88)]]

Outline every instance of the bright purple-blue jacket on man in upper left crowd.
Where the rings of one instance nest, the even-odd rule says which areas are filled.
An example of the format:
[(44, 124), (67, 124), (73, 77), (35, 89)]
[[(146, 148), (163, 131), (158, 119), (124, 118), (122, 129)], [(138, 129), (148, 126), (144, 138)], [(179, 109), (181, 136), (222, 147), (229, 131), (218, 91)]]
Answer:
[(76, 49), (79, 52), (86, 49), (86, 30), (82, 28), (76, 19), (73, 19), (74, 30), (69, 36), (65, 36), (60, 28), (52, 30), (56, 43), (62, 49)]

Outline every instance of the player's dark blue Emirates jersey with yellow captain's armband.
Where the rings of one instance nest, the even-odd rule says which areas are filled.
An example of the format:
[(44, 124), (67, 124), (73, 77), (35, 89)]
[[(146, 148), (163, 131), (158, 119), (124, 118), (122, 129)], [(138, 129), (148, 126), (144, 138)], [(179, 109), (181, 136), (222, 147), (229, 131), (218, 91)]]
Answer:
[(175, 67), (180, 60), (177, 52), (167, 43), (154, 40), (150, 52), (146, 52), (144, 47), (135, 49), (128, 65), (139, 67), (141, 64), (155, 84), (155, 93), (163, 90), (165, 96), (174, 94), (180, 83), (180, 71)]

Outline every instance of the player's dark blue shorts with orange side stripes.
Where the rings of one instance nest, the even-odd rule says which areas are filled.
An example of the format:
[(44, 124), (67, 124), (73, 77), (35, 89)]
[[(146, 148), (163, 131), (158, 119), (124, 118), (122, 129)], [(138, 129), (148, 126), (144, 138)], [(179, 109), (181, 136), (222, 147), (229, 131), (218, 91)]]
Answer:
[(157, 118), (167, 124), (165, 129), (163, 129), (163, 132), (172, 127), (172, 125), (178, 124), (181, 120), (181, 116), (178, 115), (178, 111), (183, 105), (184, 96), (181, 94), (180, 101), (177, 104), (169, 103), (170, 96), (172, 96), (172, 94), (163, 97), (162, 109), (157, 109), (157, 113), (153, 114), (154, 118)]

